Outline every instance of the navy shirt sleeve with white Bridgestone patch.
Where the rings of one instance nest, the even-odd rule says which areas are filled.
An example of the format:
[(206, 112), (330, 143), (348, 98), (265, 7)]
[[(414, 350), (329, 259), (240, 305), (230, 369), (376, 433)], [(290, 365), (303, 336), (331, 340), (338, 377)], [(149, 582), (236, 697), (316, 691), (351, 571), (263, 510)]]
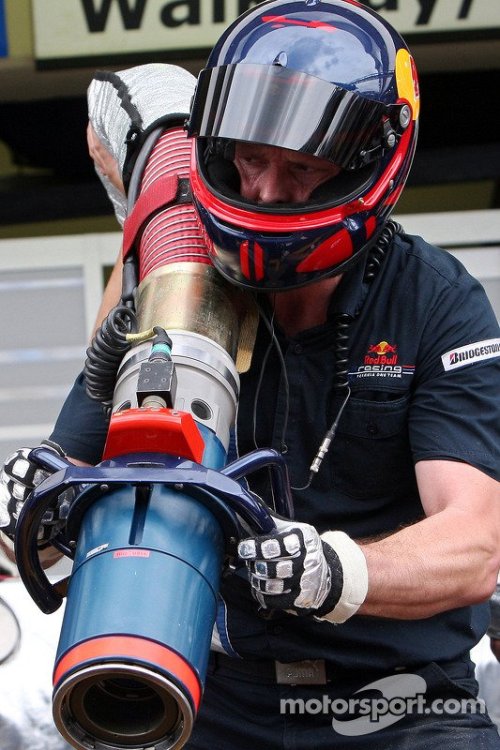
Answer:
[(484, 289), (465, 270), (435, 294), (410, 410), (415, 461), (464, 461), (500, 479), (499, 335)]

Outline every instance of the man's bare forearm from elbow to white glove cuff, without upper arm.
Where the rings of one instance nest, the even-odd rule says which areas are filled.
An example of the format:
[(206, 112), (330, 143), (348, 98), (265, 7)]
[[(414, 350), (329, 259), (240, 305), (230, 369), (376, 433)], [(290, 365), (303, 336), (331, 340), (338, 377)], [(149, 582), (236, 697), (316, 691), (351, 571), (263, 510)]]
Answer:
[(486, 600), (499, 566), (494, 540), (484, 519), (450, 508), (362, 544), (369, 588), (359, 614), (414, 620)]

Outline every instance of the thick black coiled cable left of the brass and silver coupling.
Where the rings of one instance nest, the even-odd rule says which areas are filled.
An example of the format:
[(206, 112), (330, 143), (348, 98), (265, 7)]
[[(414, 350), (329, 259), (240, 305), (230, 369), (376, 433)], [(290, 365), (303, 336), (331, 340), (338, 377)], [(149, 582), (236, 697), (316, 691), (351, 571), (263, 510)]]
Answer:
[(91, 399), (102, 403), (107, 414), (113, 404), (118, 368), (131, 346), (127, 334), (136, 330), (134, 310), (118, 305), (108, 314), (87, 349), (83, 369), (85, 389)]

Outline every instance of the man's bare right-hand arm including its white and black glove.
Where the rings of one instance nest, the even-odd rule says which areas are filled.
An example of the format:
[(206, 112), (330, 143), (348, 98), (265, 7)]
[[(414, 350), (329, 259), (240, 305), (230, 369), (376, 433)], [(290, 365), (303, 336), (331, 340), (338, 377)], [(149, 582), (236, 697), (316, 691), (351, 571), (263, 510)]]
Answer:
[(460, 462), (421, 461), (426, 518), (378, 540), (275, 517), (238, 545), (265, 609), (343, 623), (359, 614), (415, 620), (485, 601), (500, 566), (500, 484)]

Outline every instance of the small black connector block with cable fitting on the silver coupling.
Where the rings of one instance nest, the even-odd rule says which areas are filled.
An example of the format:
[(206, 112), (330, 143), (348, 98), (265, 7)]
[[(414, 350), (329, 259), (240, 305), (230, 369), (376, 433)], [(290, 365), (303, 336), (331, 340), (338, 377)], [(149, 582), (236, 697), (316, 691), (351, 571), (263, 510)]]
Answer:
[(177, 390), (172, 340), (160, 326), (155, 326), (153, 332), (151, 353), (139, 370), (137, 403), (140, 407), (172, 409)]

